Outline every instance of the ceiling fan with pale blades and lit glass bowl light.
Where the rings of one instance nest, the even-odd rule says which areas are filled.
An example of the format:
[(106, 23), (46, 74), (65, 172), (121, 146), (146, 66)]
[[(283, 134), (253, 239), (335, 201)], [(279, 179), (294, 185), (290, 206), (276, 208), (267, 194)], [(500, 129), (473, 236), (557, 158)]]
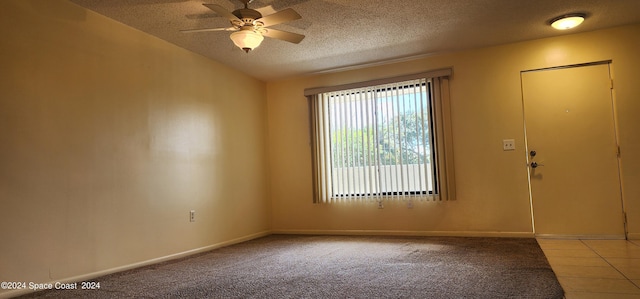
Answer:
[(236, 9), (233, 12), (229, 12), (224, 7), (217, 4), (202, 4), (215, 11), (218, 15), (229, 19), (231, 27), (189, 29), (181, 31), (184, 33), (234, 31), (231, 33), (231, 40), (236, 46), (238, 46), (238, 48), (247, 53), (258, 47), (264, 39), (264, 36), (288, 41), (294, 44), (300, 43), (302, 39), (304, 39), (304, 35), (302, 34), (268, 28), (273, 25), (302, 18), (295, 10), (287, 8), (263, 17), (259, 11), (249, 8), (249, 3), (253, 0), (239, 1), (244, 4), (244, 8)]

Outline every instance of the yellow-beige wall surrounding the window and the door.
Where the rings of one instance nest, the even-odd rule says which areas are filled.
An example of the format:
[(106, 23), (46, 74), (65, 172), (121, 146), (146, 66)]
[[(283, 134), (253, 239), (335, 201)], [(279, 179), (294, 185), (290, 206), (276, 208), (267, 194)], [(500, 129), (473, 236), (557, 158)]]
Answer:
[[(640, 156), (634, 154), (640, 153), (638, 51), (640, 25), (635, 25), (268, 83), (272, 229), (530, 236), (520, 71), (612, 59), (629, 231), (631, 237), (640, 238)], [(416, 204), (413, 209), (401, 204), (387, 204), (384, 209), (375, 204), (312, 204), (304, 89), (443, 67), (453, 68), (451, 118), (458, 199)], [(512, 138), (517, 150), (503, 151), (502, 140)]]

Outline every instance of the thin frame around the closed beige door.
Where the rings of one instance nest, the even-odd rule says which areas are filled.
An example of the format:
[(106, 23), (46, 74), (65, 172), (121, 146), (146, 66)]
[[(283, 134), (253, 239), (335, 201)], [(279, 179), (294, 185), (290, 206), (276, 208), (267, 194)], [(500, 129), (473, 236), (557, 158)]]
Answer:
[(623, 219), (621, 219), (622, 224), (623, 224), (623, 230), (624, 230), (624, 236), (622, 238), (619, 238), (617, 236), (611, 236), (611, 239), (628, 239), (629, 238), (629, 230), (628, 230), (628, 223), (627, 223), (627, 208), (626, 208), (626, 204), (625, 204), (625, 198), (624, 198), (624, 192), (623, 192), (623, 183), (622, 183), (622, 169), (621, 169), (621, 163), (620, 163), (620, 138), (619, 138), (619, 129), (618, 129), (618, 113), (617, 113), (617, 105), (616, 105), (616, 99), (615, 99), (615, 92), (614, 92), (614, 88), (613, 88), (613, 75), (612, 75), (612, 63), (613, 60), (601, 60), (601, 61), (594, 61), (594, 62), (587, 62), (587, 63), (578, 63), (578, 64), (567, 64), (567, 65), (559, 65), (559, 66), (553, 66), (553, 67), (544, 67), (544, 68), (537, 68), (537, 69), (528, 69), (528, 70), (522, 70), (520, 71), (520, 94), (521, 94), (521, 101), (522, 101), (522, 122), (523, 122), (523, 130), (524, 130), (524, 145), (525, 145), (525, 161), (526, 161), (526, 167), (527, 167), (527, 187), (528, 187), (528, 192), (529, 192), (529, 209), (531, 212), (531, 225), (532, 225), (532, 229), (533, 229), (533, 235), (534, 237), (539, 237), (539, 238), (557, 238), (557, 239), (600, 239), (602, 238), (602, 236), (593, 236), (593, 235), (548, 235), (548, 234), (537, 234), (536, 233), (536, 225), (535, 225), (535, 211), (533, 209), (533, 194), (532, 194), (532, 189), (531, 189), (531, 169), (530, 169), (530, 159), (531, 157), (529, 156), (529, 139), (527, 137), (527, 121), (526, 121), (526, 112), (525, 112), (525, 103), (524, 103), (524, 85), (523, 85), (523, 77), (522, 75), (524, 73), (529, 73), (529, 72), (540, 72), (540, 71), (553, 71), (553, 70), (560, 70), (560, 69), (568, 69), (568, 68), (578, 68), (578, 67), (586, 67), (586, 66), (594, 66), (594, 65), (603, 65), (606, 64), (609, 68), (609, 79), (611, 80), (611, 91), (610, 91), (610, 99), (611, 99), (611, 107), (612, 107), (612, 121), (613, 121), (613, 128), (614, 128), (614, 137), (615, 137), (615, 141), (616, 141), (616, 145), (618, 146), (618, 155), (617, 155), (617, 166), (618, 166), (618, 181), (620, 184), (620, 201), (621, 201), (621, 208), (622, 208), (622, 217)]

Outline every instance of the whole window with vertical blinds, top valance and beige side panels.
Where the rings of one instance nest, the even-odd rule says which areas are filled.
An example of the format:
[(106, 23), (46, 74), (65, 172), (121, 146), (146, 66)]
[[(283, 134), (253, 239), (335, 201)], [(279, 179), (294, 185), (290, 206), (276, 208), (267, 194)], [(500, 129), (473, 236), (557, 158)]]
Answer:
[(314, 202), (453, 198), (450, 70), (436, 73), (306, 91)]

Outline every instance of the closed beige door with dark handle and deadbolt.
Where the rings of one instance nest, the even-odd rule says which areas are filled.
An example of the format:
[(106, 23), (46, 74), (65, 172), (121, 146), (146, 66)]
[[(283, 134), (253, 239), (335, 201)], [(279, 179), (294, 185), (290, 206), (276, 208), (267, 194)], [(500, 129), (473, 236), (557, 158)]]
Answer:
[(609, 63), (521, 76), (536, 235), (624, 238)]

